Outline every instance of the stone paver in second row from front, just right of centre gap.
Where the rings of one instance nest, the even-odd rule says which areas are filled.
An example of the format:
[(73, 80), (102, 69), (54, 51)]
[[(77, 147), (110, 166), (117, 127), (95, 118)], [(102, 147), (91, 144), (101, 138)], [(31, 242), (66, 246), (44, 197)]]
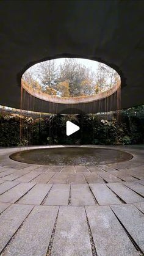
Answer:
[(88, 185), (71, 185), (71, 205), (95, 205), (95, 201), (93, 200), (92, 193), (90, 192)]

